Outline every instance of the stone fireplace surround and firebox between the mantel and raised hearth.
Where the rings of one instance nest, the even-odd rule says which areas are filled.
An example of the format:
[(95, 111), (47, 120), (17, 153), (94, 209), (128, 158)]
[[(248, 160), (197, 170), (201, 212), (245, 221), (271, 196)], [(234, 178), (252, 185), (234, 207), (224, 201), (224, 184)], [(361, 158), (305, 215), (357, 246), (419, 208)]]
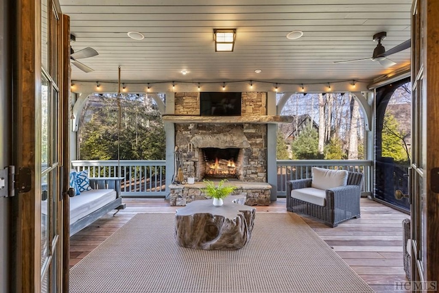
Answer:
[(180, 124), (176, 145), (185, 177), (267, 182), (265, 125)]

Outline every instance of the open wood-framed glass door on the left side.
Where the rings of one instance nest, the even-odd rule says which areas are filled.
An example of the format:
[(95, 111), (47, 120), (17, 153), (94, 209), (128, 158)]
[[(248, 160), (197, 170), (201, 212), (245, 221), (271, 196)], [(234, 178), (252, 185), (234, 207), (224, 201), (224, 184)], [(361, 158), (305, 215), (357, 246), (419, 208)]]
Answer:
[[(62, 15), (57, 0), (18, 0), (12, 150), (29, 169), (13, 197), (12, 292), (62, 290)], [(65, 119), (68, 121), (68, 119)], [(21, 178), (21, 176), (20, 176)]]

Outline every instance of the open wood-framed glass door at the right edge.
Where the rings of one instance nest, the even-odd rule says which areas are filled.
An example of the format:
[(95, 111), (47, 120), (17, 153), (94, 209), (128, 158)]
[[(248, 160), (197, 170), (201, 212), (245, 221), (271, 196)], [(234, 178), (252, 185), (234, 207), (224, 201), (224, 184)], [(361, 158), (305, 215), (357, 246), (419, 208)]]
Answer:
[[(412, 289), (439, 279), (439, 1), (412, 5)], [(420, 287), (421, 283), (425, 287)], [(437, 287), (436, 287), (437, 290)]]

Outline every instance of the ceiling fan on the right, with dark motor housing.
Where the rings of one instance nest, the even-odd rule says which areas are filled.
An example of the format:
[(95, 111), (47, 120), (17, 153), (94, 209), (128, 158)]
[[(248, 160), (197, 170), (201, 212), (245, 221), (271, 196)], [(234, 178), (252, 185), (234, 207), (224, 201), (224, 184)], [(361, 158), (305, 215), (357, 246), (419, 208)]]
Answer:
[(410, 48), (410, 39), (406, 40), (404, 43), (401, 43), (397, 45), (396, 47), (393, 47), (392, 49), (385, 51), (385, 48), (383, 45), (381, 45), (381, 40), (384, 40), (387, 36), (386, 32), (379, 32), (373, 36), (373, 40), (378, 42), (377, 47), (373, 50), (373, 54), (371, 58), (361, 58), (361, 59), (355, 59), (355, 60), (343, 60), (343, 61), (335, 61), (333, 63), (347, 63), (347, 62), (356, 62), (361, 60), (372, 60), (372, 61), (378, 61), (379, 64), (381, 64), (384, 68), (391, 67), (393, 65), (396, 65), (395, 62), (388, 59), (387, 57), (398, 53), (400, 51), (403, 51), (405, 49)]

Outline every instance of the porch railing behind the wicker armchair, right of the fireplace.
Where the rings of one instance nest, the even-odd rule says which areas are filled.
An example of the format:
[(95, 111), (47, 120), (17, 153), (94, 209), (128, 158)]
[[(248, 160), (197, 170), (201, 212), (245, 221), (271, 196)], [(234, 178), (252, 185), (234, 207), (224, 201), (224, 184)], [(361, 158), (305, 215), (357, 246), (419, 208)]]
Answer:
[(287, 181), (311, 178), (311, 167), (327, 169), (344, 169), (364, 174), (364, 196), (372, 193), (373, 161), (366, 160), (278, 160), (277, 161), (277, 196), (285, 196)]

